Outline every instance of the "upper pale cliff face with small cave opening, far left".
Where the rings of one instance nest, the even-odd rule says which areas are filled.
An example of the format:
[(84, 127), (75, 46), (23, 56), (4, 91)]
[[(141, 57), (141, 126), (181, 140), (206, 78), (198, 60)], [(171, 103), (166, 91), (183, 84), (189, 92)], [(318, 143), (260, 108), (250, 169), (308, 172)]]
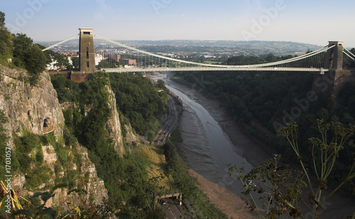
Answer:
[(13, 131), (21, 136), (23, 129), (43, 135), (54, 132), (62, 135), (64, 117), (58, 102), (57, 92), (50, 83), (50, 76), (43, 72), (37, 86), (26, 82), (24, 70), (0, 66), (0, 110), (9, 118), (5, 129), (13, 149)]

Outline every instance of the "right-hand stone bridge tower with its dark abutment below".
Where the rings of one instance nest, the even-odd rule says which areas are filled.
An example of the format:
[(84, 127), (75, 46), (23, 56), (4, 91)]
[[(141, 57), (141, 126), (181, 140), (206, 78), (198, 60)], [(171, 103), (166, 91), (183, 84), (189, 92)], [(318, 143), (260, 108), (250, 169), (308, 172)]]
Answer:
[[(334, 45), (334, 47), (332, 47)], [(324, 74), (315, 74), (313, 77), (312, 91), (321, 98), (327, 97), (332, 92), (338, 94), (342, 86), (352, 78), (350, 70), (343, 70), (343, 42), (329, 41), (325, 55), (324, 69), (329, 69)]]

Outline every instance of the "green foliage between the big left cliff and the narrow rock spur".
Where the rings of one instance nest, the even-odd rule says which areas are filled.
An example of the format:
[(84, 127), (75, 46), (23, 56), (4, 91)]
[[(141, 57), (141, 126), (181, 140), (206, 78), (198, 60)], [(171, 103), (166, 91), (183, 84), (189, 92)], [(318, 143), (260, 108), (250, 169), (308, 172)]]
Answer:
[[(95, 164), (98, 176), (104, 180), (109, 191), (109, 206), (114, 208), (112, 211), (119, 209), (121, 216), (133, 215), (138, 218), (143, 217), (146, 211), (155, 214), (155, 210), (158, 209), (152, 207), (155, 206), (154, 186), (146, 180), (148, 177), (146, 160), (131, 152), (126, 152), (126, 155), (121, 157), (114, 150), (113, 140), (107, 137), (106, 123), (111, 116), (106, 87), (109, 85), (108, 74), (92, 74), (87, 82), (80, 84), (72, 84), (62, 77), (52, 77), (52, 82), (58, 91), (59, 99), (65, 101), (63, 97), (66, 97), (67, 100), (76, 101), (63, 112), (66, 127), (64, 141), (66, 145), (73, 145), (76, 144), (77, 138), (80, 144), (87, 147), (89, 159)], [(154, 88), (153, 91), (158, 93)], [(128, 123), (125, 122), (124, 116), (120, 116), (120, 119), (122, 125)], [(75, 147), (72, 148), (74, 150)], [(55, 151), (63, 167), (72, 162), (72, 160), (66, 162), (68, 158), (65, 157), (67, 156), (65, 147), (55, 144)], [(81, 165), (78, 163), (79, 158), (74, 157), (77, 167)], [(55, 172), (60, 172), (60, 169)], [(70, 188), (80, 187), (85, 179), (82, 179), (82, 182), (80, 179), (75, 184), (73, 179), (77, 178), (76, 174), (77, 172), (69, 171), (62, 181), (69, 184)], [(123, 201), (126, 206), (121, 206)], [(139, 208), (143, 208), (143, 211), (138, 210)]]

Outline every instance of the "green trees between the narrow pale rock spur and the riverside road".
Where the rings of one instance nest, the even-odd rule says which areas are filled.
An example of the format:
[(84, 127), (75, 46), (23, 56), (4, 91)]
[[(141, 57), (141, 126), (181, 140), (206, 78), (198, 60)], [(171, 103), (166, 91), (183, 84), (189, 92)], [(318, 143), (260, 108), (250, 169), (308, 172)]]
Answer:
[(116, 95), (119, 111), (124, 113), (139, 135), (152, 140), (159, 125), (158, 118), (168, 111), (168, 96), (141, 74), (110, 74), (111, 89)]

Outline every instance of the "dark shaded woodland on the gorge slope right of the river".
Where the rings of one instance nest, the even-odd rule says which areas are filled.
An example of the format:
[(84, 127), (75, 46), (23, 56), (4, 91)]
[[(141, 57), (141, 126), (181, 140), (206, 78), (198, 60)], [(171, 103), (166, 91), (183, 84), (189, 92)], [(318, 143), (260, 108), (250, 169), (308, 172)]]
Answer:
[[(246, 58), (246, 57), (244, 57)], [(231, 59), (234, 60), (234, 59)], [(236, 60), (230, 64), (234, 64)], [(249, 60), (245, 60), (249, 63)], [(243, 62), (244, 63), (244, 62)], [(340, 122), (343, 124), (355, 123), (355, 82), (347, 82), (338, 96), (330, 95), (325, 99), (315, 95), (312, 101), (307, 100), (311, 93), (312, 74), (299, 74), (288, 72), (197, 72), (195, 74), (180, 72), (176, 74), (180, 79), (213, 99), (219, 99), (221, 106), (225, 107), (231, 116), (244, 127), (246, 131), (265, 141), (277, 153), (285, 159), (293, 160), (297, 157), (285, 147), (283, 142), (278, 144), (275, 138), (266, 136), (260, 130), (252, 129), (250, 123), (261, 123), (268, 130), (275, 130), (274, 122), (283, 123), (285, 115), (291, 114), (291, 110), (300, 109), (300, 115), (292, 116), (299, 125), (300, 151), (308, 151), (310, 147), (307, 139), (317, 135), (316, 119), (324, 122)], [(200, 86), (203, 82), (204, 86)], [(307, 100), (305, 107), (300, 108), (301, 100)], [(289, 122), (289, 121), (286, 121)], [(292, 121), (291, 121), (292, 122)], [(339, 152), (337, 168), (346, 171), (334, 172), (329, 176), (328, 183), (335, 188), (339, 180), (346, 177), (344, 172), (349, 171), (352, 164), (351, 148), (346, 147)], [(302, 155), (305, 159), (312, 159), (310, 153)], [(310, 167), (314, 169), (314, 167)], [(334, 187), (335, 186), (335, 187)], [(343, 187), (351, 193), (351, 186)]]

